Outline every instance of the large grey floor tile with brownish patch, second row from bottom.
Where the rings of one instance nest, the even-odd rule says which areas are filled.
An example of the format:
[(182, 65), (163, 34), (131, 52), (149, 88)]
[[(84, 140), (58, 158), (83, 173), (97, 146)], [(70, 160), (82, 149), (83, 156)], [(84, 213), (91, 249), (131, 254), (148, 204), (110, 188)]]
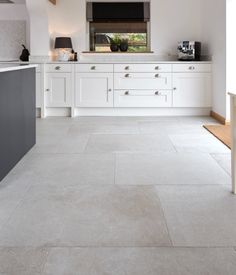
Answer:
[(0, 230), (0, 246), (170, 246), (153, 187), (37, 185)]

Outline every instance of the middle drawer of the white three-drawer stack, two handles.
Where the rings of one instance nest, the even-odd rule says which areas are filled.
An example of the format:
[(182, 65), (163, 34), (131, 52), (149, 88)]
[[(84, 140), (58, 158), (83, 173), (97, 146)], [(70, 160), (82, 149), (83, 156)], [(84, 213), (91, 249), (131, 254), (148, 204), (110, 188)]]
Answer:
[(172, 89), (171, 73), (116, 73), (116, 90)]

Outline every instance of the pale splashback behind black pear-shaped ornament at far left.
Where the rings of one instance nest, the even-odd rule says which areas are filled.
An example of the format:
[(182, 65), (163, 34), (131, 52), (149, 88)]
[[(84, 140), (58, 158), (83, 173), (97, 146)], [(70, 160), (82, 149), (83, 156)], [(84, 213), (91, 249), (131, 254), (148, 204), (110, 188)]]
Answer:
[(26, 44), (26, 21), (0, 20), (0, 60), (19, 59)]

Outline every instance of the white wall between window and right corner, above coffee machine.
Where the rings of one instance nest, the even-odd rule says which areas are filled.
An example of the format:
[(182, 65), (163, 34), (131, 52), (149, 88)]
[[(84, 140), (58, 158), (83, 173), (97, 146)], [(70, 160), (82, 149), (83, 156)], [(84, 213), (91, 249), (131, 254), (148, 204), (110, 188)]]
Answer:
[(177, 42), (202, 40), (202, 0), (152, 0), (152, 50), (176, 55)]

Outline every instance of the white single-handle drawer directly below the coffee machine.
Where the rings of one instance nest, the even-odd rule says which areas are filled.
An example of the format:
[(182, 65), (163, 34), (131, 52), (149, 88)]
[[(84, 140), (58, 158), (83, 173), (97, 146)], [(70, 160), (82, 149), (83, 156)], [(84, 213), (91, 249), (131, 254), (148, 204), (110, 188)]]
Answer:
[(208, 73), (211, 72), (211, 64), (198, 64), (198, 63), (185, 63), (185, 64), (174, 64), (173, 72), (175, 73)]

